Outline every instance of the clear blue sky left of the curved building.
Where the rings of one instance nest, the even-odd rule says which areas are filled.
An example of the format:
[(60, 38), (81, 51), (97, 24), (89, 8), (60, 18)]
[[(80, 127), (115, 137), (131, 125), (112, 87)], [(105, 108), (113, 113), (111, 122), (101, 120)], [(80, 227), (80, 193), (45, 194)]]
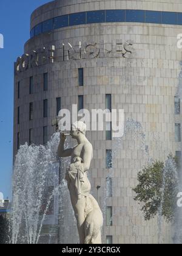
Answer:
[(13, 158), (13, 63), (30, 37), (30, 15), (49, 0), (1, 0), (0, 34), (0, 192), (11, 197)]

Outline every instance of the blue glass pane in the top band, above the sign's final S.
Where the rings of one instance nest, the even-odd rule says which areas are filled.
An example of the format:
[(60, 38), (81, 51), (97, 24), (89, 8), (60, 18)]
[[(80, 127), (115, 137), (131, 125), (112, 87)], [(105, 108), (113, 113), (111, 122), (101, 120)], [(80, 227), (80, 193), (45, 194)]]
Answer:
[(126, 10), (126, 22), (141, 22), (145, 21), (144, 10)]

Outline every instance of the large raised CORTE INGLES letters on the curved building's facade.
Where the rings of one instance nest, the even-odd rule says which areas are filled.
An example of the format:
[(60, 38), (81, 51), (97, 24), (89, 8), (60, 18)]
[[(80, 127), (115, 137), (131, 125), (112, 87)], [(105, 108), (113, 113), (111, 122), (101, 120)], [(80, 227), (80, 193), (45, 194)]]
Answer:
[(132, 54), (132, 41), (114, 40), (107, 43), (101, 40), (99, 43), (81, 43), (73, 46), (71, 43), (62, 43), (60, 48), (47, 46), (36, 49), (28, 54), (18, 57), (15, 63), (15, 74), (19, 74), (26, 69), (36, 68), (55, 60), (86, 60), (96, 58), (129, 58)]

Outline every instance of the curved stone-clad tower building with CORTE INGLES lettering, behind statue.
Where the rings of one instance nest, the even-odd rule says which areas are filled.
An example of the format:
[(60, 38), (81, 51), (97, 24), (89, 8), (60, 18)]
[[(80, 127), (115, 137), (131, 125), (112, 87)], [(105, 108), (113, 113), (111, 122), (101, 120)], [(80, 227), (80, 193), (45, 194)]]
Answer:
[[(144, 221), (132, 188), (148, 158), (180, 155), (181, 33), (180, 0), (56, 0), (32, 13), (15, 63), (14, 157), (26, 141), (46, 143), (52, 119), (72, 104), (124, 109), (132, 123), (120, 143), (106, 130), (87, 132), (93, 194), (106, 208), (103, 243), (158, 243), (157, 219)], [(172, 243), (170, 225), (162, 234)]]

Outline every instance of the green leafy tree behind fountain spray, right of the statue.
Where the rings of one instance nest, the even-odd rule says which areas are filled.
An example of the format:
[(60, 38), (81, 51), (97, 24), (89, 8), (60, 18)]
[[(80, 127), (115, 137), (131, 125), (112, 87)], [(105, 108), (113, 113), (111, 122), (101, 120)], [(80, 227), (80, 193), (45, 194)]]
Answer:
[(143, 204), (144, 219), (159, 212), (167, 222), (174, 219), (178, 193), (177, 160), (169, 155), (164, 162), (155, 161), (138, 173), (138, 185), (133, 189), (135, 201)]

